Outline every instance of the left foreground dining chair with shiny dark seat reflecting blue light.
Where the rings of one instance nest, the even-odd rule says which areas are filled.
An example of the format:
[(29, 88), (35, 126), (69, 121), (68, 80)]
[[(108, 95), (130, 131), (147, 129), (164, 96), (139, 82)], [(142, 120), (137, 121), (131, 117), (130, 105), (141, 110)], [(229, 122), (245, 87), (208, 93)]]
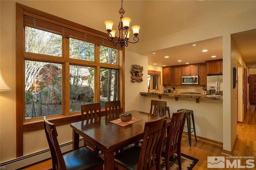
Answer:
[(57, 139), (56, 126), (46, 117), (44, 117), (44, 130), (52, 156), (53, 170), (103, 170), (104, 160), (87, 147), (81, 147), (63, 156)]

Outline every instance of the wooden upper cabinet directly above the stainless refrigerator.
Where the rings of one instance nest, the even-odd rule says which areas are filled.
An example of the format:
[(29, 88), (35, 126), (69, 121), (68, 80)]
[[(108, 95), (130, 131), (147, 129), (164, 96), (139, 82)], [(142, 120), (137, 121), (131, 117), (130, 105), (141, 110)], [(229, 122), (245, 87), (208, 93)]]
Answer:
[(222, 75), (222, 59), (206, 61), (208, 75)]

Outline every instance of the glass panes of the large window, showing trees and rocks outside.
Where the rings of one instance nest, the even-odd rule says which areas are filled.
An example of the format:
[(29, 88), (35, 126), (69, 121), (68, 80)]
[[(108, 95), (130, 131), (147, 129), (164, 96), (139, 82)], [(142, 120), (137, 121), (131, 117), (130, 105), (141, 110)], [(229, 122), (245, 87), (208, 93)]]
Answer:
[[(95, 65), (85, 66), (90, 64), (79, 61), (95, 62), (97, 45), (74, 38), (68, 38), (69, 45), (63, 45), (62, 38), (65, 37), (25, 26), (25, 52), (40, 54), (48, 61), (25, 59), (25, 119), (62, 114), (63, 107), (74, 113), (80, 111), (81, 105), (95, 103), (95, 81), (100, 81), (99, 100), (102, 108), (106, 101), (118, 100), (118, 69), (100, 67), (100, 79), (96, 80)], [(118, 64), (117, 49), (99, 47), (100, 63)], [(56, 61), (51, 57), (62, 57), (62, 49), (67, 48), (68, 57), (76, 60), (54, 63)], [(62, 71), (63, 64), (69, 65), (68, 76)], [(69, 86), (69, 108), (62, 105), (66, 100), (65, 95), (62, 97), (62, 78), (65, 81), (66, 77), (69, 77), (69, 85), (66, 85)]]

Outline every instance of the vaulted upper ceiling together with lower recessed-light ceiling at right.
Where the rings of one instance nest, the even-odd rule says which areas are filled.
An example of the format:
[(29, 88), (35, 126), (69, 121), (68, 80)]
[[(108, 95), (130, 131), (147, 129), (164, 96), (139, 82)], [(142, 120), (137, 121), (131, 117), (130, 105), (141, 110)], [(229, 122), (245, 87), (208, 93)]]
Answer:
[[(226, 17), (240, 15), (255, 8), (256, 1), (146, 1), (145, 27), (148, 30), (145, 31), (150, 36), (164, 36)], [(163, 20), (170, 22), (163, 22)], [(154, 34), (154, 32), (158, 34)], [(147, 37), (145, 37), (146, 41)], [(232, 38), (246, 65), (249, 68), (256, 68), (256, 30), (232, 34)], [(196, 44), (196, 46), (192, 46), (192, 44)], [(202, 52), (203, 49), (208, 49), (208, 51)], [(154, 52), (155, 54), (148, 51), (142, 55), (148, 56), (148, 64), (157, 66), (202, 63), (206, 60), (222, 59), (222, 37)], [(212, 58), (212, 55), (216, 57)], [(169, 58), (165, 58), (165, 56), (169, 56)]]

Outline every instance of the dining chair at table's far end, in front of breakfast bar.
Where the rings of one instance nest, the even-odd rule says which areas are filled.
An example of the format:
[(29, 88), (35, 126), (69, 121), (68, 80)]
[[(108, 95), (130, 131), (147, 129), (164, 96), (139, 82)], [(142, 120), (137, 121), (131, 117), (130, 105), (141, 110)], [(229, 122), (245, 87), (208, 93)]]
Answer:
[(159, 116), (166, 115), (166, 101), (151, 100), (150, 114)]

